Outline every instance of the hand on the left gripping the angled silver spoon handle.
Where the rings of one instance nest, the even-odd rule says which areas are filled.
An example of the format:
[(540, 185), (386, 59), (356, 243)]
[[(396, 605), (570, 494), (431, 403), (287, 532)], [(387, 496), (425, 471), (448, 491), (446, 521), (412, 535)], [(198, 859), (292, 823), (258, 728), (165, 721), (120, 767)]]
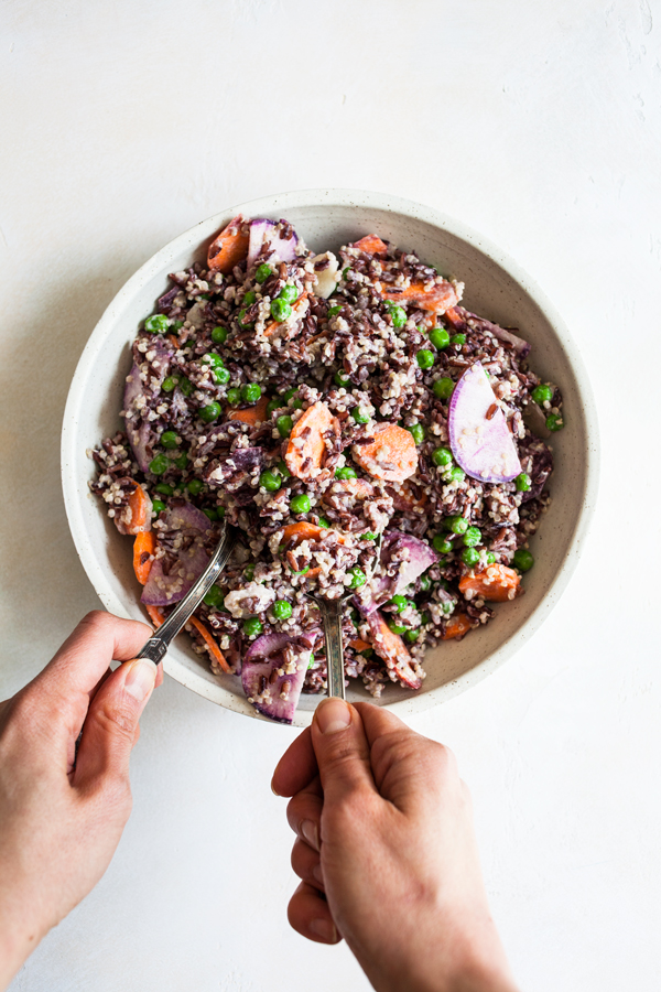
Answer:
[(134, 658), (150, 635), (145, 624), (90, 613), (0, 702), (0, 989), (96, 885), (119, 843), (138, 720), (163, 673), (149, 660), (109, 665)]

